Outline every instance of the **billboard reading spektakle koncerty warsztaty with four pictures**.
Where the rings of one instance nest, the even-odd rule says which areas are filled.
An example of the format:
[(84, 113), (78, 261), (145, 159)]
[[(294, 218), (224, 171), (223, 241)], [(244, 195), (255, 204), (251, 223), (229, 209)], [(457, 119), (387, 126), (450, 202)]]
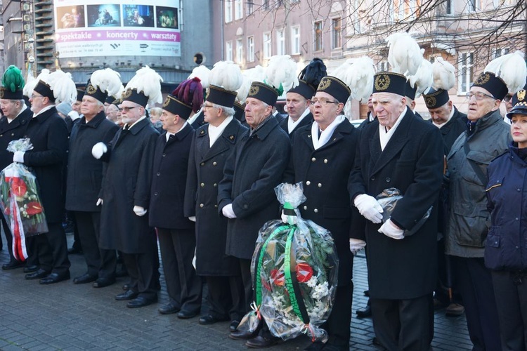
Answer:
[(181, 56), (178, 1), (55, 0), (60, 58)]

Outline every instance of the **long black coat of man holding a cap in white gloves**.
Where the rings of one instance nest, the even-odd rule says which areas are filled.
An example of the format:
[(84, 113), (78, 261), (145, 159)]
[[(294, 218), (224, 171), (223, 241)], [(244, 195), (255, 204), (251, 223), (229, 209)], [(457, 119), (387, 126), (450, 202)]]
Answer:
[[(365, 233), (368, 285), (372, 298), (410, 299), (434, 291), (436, 285), (437, 199), (443, 180), (443, 139), (438, 128), (407, 112), (381, 151), (379, 121), (360, 133), (350, 176), (351, 199), (377, 194), (389, 187), (401, 190), (391, 218), (405, 229), (434, 206), (430, 218), (410, 237), (391, 239), (370, 220), (352, 223), (354, 237)], [(365, 227), (355, 224), (364, 223)]]

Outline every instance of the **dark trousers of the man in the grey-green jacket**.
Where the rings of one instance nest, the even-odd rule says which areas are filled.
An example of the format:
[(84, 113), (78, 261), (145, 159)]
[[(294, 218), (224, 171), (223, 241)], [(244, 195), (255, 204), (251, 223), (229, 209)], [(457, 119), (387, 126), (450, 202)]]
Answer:
[(467, 329), (474, 351), (501, 350), (500, 324), (497, 318), (490, 270), (483, 258), (453, 256), (457, 267), (457, 286), (467, 316)]

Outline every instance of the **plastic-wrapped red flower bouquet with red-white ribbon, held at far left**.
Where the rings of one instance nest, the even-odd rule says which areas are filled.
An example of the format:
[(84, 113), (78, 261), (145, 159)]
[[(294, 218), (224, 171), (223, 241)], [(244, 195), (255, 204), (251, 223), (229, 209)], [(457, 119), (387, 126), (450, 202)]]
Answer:
[[(31, 150), (30, 139), (9, 143), (11, 152)], [(13, 255), (25, 260), (25, 238), (48, 232), (44, 208), (39, 197), (37, 178), (24, 164), (13, 162), (0, 172), (0, 209), (13, 234)]]

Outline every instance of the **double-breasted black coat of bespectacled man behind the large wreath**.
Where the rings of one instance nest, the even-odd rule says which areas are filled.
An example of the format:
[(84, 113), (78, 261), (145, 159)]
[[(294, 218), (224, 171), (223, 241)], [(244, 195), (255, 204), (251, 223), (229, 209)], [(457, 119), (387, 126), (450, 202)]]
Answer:
[[(352, 208), (348, 180), (355, 159), (358, 130), (348, 121), (335, 128), (331, 139), (315, 150), (311, 125), (295, 132), (286, 180), (302, 182), (306, 201), (299, 206), (302, 218), (329, 230), (339, 256), (339, 286), (349, 285), (353, 256), (349, 251)], [(294, 173), (294, 180), (289, 177)], [(356, 208), (353, 208), (358, 215)]]

